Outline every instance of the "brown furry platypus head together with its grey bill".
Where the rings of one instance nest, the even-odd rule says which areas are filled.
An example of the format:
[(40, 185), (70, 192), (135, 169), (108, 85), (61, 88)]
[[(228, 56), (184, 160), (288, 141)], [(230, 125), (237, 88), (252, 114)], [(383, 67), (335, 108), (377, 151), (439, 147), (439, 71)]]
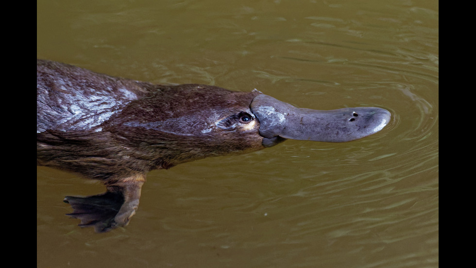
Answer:
[(147, 148), (151, 159), (160, 159), (159, 168), (168, 168), (256, 151), (286, 139), (348, 142), (379, 131), (389, 120), (390, 113), (382, 108), (312, 110), (257, 90), (190, 84), (166, 87), (136, 100), (108, 124), (128, 141), (136, 141), (135, 148)]

